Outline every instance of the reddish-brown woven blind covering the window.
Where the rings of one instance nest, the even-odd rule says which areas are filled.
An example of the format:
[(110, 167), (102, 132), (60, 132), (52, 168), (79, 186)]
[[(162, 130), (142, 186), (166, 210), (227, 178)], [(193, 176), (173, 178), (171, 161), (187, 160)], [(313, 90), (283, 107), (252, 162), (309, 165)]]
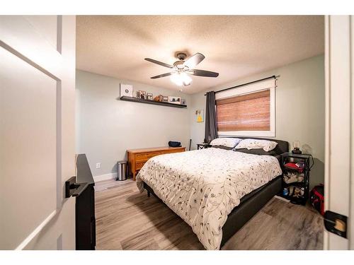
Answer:
[(270, 90), (216, 100), (218, 131), (269, 131)]

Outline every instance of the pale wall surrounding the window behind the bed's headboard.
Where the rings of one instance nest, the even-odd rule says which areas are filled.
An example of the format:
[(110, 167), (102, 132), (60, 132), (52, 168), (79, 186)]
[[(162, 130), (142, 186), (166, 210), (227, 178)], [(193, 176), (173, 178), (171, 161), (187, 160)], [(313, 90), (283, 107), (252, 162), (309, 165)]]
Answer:
[[(324, 55), (298, 61), (265, 73), (217, 86), (221, 90), (267, 76), (278, 76), (275, 88), (275, 139), (292, 143), (299, 140), (304, 153), (314, 155), (310, 185), (324, 182)], [(190, 100), (192, 147), (204, 139), (205, 123), (195, 121), (195, 110), (205, 109), (205, 91)]]

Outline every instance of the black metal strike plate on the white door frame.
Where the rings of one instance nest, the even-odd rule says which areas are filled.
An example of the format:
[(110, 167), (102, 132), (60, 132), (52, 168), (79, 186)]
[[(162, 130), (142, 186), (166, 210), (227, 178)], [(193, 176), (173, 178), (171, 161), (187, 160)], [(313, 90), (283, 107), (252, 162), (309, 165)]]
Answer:
[(324, 213), (324, 227), (329, 232), (333, 232), (340, 237), (347, 238), (347, 216), (342, 216), (333, 211), (326, 211)]

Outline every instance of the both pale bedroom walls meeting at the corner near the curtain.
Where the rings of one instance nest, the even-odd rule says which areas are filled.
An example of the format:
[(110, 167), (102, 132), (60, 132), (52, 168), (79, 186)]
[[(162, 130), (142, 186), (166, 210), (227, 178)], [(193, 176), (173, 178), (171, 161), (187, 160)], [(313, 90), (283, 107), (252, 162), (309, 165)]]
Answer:
[[(311, 186), (324, 182), (324, 55), (258, 73), (210, 90), (229, 88), (266, 76), (278, 76), (275, 91), (275, 139), (299, 140), (304, 153), (312, 153), (315, 166)], [(178, 109), (117, 100), (120, 83), (154, 95), (178, 95), (188, 108)], [(181, 141), (192, 148), (204, 139), (205, 123), (195, 121), (195, 110), (205, 109), (205, 91), (194, 95), (132, 81), (76, 71), (76, 152), (86, 153), (94, 176), (115, 172), (129, 148), (166, 146)], [(102, 163), (96, 170), (96, 163)]]

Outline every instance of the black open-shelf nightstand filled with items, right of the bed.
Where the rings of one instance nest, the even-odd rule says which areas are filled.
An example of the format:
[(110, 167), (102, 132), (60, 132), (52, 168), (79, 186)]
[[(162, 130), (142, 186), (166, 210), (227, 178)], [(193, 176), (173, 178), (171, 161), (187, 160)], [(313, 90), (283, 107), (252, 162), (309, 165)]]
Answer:
[(312, 155), (282, 153), (282, 197), (293, 204), (305, 205), (309, 199), (309, 172), (314, 165)]

